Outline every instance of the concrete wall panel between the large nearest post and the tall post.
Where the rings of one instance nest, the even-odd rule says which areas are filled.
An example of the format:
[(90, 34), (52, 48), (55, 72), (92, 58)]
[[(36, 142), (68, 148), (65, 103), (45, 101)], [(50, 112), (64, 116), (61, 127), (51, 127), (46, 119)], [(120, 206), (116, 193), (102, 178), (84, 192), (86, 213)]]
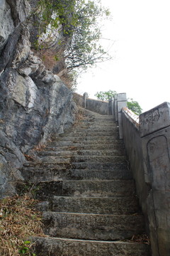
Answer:
[(128, 154), (128, 161), (130, 162), (130, 169), (135, 179), (137, 197), (139, 198), (142, 212), (145, 215), (146, 230), (149, 233), (146, 205), (149, 187), (145, 183), (139, 124), (132, 117), (134, 117), (134, 114), (128, 108), (124, 108), (122, 112), (123, 141)]

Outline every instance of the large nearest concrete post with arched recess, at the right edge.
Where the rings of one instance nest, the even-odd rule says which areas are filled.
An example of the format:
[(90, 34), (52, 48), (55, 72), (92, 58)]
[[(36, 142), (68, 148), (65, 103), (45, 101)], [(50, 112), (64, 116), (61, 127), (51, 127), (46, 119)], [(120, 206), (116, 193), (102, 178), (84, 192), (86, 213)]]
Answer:
[(152, 255), (170, 253), (170, 104), (140, 114)]

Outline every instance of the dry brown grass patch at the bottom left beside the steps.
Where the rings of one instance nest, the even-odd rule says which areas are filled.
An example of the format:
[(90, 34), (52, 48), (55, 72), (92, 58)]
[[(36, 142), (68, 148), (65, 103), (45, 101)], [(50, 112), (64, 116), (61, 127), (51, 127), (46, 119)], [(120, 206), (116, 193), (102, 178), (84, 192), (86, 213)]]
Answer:
[(29, 194), (13, 196), (0, 201), (0, 255), (21, 256), (33, 253), (31, 236), (42, 232), (41, 213), (35, 209), (37, 200)]

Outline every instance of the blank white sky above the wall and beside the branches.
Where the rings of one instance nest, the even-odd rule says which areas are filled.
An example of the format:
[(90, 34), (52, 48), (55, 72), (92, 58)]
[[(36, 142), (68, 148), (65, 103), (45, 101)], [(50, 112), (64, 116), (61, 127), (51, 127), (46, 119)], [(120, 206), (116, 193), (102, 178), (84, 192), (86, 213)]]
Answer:
[(103, 37), (113, 60), (81, 75), (77, 92), (126, 92), (144, 111), (170, 102), (170, 1), (101, 0), (113, 16)]

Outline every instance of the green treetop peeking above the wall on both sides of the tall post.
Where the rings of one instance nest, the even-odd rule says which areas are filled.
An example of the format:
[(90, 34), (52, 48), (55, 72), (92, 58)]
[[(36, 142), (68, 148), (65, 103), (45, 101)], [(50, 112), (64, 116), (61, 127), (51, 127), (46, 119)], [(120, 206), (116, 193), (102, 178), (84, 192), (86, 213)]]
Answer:
[[(110, 100), (112, 97), (117, 95), (117, 92), (113, 90), (108, 90), (108, 91), (101, 91), (101, 92), (96, 92), (96, 96), (98, 100)], [(127, 106), (129, 110), (132, 110), (135, 114), (139, 115), (142, 113), (142, 108), (140, 107), (139, 103), (132, 98), (128, 99)]]

